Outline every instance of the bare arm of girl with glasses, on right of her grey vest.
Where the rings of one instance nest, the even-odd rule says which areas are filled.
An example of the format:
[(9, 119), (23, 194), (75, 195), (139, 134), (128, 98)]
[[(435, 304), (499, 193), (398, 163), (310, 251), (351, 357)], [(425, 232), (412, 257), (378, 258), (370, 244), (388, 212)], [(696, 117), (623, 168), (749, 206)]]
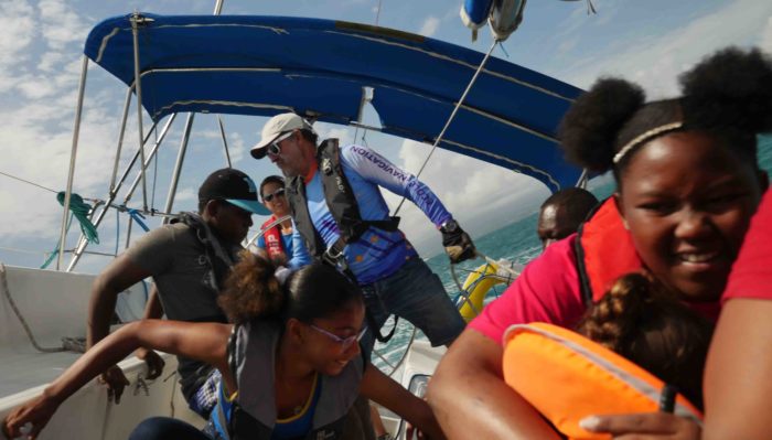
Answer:
[(398, 414), (429, 439), (444, 439), (429, 405), (373, 365), (365, 369), (361, 393), (368, 399)]

